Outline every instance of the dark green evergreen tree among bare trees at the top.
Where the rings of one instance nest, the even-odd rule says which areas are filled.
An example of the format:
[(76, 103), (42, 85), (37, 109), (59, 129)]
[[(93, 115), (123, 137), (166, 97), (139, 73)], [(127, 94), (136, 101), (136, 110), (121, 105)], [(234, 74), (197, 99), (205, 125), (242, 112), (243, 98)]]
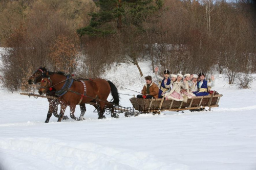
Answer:
[(78, 35), (108, 35), (131, 24), (142, 28), (143, 19), (161, 8), (162, 0), (99, 0), (96, 5), (99, 11), (91, 14), (90, 25), (78, 29)]

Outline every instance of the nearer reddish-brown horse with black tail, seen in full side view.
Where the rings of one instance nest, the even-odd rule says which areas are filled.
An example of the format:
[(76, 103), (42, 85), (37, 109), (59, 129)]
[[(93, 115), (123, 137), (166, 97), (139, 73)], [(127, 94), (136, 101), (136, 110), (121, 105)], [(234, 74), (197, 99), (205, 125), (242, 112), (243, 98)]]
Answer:
[[(104, 118), (105, 116), (105, 106), (111, 108), (111, 116), (116, 117), (114, 113), (114, 104), (119, 105), (119, 94), (116, 86), (111, 81), (106, 81), (103, 79), (93, 79), (93, 80), (83, 80), (83, 81), (73, 81), (70, 87), (65, 87), (67, 81), (70, 78), (67, 76), (59, 74), (58, 72), (49, 72), (47, 71), (44, 75), (44, 79), (40, 81), (39, 94), (46, 93), (46, 91), (55, 88), (57, 92), (63, 91), (60, 96), (60, 117), (58, 122), (61, 121), (61, 118), (67, 108), (70, 106), (70, 117), (75, 120), (82, 120), (82, 115), (79, 118), (75, 117), (75, 108), (77, 104), (85, 104), (89, 102), (95, 102), (97, 106), (95, 107), (98, 110), (98, 118)], [(108, 98), (110, 92), (113, 96), (113, 104), (110, 104), (106, 99)]]

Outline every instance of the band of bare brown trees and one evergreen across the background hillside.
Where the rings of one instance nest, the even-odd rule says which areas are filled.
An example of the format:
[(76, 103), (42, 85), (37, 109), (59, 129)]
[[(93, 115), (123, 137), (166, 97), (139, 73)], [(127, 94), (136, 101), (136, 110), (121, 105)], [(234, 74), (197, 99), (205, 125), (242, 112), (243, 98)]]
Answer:
[(38, 66), (96, 78), (117, 63), (151, 61), (170, 72), (211, 74), (232, 84), (256, 71), (253, 1), (4, 0), (1, 72), (11, 91)]

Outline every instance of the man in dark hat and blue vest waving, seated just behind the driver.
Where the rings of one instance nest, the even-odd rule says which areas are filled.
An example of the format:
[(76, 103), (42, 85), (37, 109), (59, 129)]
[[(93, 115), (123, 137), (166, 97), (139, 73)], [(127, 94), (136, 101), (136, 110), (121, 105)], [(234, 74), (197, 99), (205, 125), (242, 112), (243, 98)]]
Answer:
[(162, 98), (163, 95), (169, 91), (170, 89), (170, 83), (171, 80), (169, 78), (170, 76), (170, 71), (168, 69), (165, 69), (163, 71), (163, 78), (157, 75), (158, 67), (155, 68), (155, 77), (159, 82), (161, 82), (160, 87), (159, 87), (159, 93), (158, 93), (158, 98)]

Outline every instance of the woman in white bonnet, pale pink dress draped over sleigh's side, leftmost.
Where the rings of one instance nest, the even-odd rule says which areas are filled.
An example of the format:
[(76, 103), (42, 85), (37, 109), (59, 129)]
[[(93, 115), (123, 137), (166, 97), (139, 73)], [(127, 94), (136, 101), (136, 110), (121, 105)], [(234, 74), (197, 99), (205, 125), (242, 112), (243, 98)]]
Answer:
[(173, 83), (173, 88), (166, 94), (166, 100), (183, 101), (183, 96), (180, 92), (181, 88), (184, 88), (184, 85), (181, 82), (183, 75), (178, 74), (177, 76), (177, 80)]

